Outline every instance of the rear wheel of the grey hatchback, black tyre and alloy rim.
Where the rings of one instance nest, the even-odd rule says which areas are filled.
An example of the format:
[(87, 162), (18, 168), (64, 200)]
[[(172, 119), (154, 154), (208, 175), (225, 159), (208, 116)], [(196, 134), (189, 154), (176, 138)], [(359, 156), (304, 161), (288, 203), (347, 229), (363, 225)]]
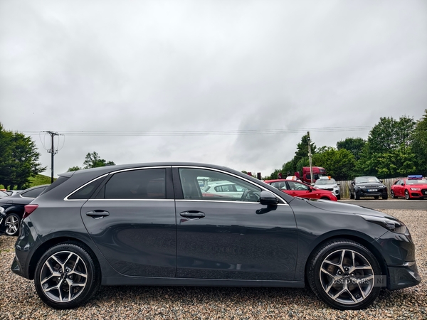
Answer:
[(89, 250), (78, 242), (64, 242), (38, 260), (34, 284), (45, 304), (71, 309), (93, 297), (100, 287), (100, 273)]

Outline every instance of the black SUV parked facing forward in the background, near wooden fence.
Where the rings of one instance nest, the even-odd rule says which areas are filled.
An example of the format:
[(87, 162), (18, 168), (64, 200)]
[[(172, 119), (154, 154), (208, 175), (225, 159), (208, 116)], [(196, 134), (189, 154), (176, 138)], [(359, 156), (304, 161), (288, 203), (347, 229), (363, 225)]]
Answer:
[(350, 199), (359, 200), (362, 197), (374, 197), (378, 199), (389, 198), (387, 187), (382, 180), (375, 176), (358, 176), (354, 178), (350, 186)]

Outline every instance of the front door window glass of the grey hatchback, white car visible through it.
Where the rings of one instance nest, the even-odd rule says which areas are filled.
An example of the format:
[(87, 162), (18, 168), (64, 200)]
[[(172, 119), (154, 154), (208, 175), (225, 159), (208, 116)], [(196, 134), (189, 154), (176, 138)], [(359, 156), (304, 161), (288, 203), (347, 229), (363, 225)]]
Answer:
[[(184, 199), (259, 202), (261, 188), (235, 176), (207, 169), (179, 169), (179, 176)], [(206, 187), (199, 186), (201, 178)]]

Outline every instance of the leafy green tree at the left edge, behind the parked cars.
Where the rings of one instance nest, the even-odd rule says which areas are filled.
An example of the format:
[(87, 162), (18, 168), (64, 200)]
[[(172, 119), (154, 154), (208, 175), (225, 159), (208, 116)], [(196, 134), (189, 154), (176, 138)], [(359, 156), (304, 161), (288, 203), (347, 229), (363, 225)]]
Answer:
[(0, 184), (5, 188), (26, 188), (31, 176), (46, 169), (38, 162), (36, 143), (20, 132), (4, 130), (0, 124)]

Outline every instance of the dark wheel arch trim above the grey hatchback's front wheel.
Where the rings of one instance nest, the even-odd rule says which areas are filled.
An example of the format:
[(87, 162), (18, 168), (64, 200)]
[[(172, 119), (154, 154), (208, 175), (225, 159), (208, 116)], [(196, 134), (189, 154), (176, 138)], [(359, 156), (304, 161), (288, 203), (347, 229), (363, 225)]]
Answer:
[(383, 255), (381, 255), (381, 252), (375, 247), (375, 245), (372, 242), (369, 242), (367, 239), (364, 239), (358, 235), (349, 235), (349, 234), (342, 234), (342, 235), (331, 235), (330, 237), (327, 237), (323, 240), (321, 240), (315, 247), (312, 248), (310, 255), (308, 255), (307, 260), (305, 261), (305, 268), (304, 268), (304, 281), (305, 284), (307, 284), (307, 270), (310, 264), (310, 261), (312, 260), (312, 256), (315, 254), (317, 249), (322, 246), (325, 242), (328, 242), (330, 240), (335, 239), (343, 239), (343, 240), (352, 240), (354, 242), (359, 243), (360, 245), (363, 245), (366, 247), (372, 254), (375, 256), (376, 261), (378, 261), (379, 267), (381, 268), (381, 273), (386, 275), (387, 278), (389, 277), (389, 270), (387, 268), (386, 260), (384, 260)]

